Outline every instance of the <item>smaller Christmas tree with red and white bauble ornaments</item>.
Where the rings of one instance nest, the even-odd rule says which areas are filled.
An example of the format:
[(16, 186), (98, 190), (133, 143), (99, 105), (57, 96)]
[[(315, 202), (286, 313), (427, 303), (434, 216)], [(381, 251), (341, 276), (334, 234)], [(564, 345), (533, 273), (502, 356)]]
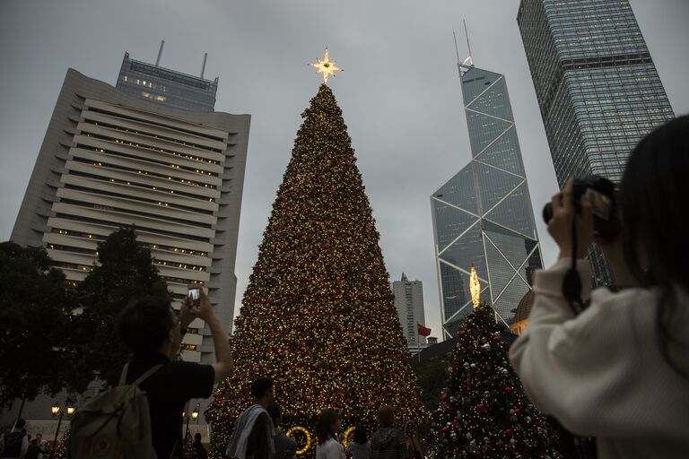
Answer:
[(562, 457), (510, 367), (493, 308), (479, 304), (465, 318), (448, 371), (432, 417), (433, 457)]

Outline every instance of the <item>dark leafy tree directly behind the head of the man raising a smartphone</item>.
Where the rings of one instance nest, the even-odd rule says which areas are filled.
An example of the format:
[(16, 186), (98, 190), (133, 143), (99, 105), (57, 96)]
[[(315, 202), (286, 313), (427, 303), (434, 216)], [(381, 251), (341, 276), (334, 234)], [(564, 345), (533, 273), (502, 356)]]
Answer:
[(117, 331), (118, 313), (132, 299), (170, 298), (150, 249), (136, 240), (134, 227), (113, 231), (99, 243), (98, 264), (79, 284), (77, 295), (82, 314), (74, 342), (83, 343), (83, 349), (81, 361), (75, 363), (91, 378), (129, 358)]

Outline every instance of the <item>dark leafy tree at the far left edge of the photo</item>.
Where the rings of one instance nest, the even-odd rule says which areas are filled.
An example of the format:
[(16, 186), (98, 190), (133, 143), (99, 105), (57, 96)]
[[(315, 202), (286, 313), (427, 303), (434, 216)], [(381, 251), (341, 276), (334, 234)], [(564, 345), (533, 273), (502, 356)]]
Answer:
[(74, 291), (42, 247), (0, 244), (0, 407), (75, 391), (69, 371)]

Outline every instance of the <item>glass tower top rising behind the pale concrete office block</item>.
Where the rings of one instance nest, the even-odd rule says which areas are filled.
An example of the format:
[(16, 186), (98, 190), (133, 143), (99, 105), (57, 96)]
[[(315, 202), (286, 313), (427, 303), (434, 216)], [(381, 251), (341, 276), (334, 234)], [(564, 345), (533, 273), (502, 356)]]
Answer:
[(129, 53), (125, 53), (116, 88), (139, 99), (153, 100), (167, 107), (213, 111), (218, 79), (204, 80), (158, 65), (146, 64), (130, 59)]

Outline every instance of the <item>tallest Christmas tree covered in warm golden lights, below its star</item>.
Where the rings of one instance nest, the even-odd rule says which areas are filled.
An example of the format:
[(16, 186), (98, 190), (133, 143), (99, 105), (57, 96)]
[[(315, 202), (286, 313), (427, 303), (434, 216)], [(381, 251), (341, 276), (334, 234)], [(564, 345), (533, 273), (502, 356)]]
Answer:
[(326, 408), (345, 429), (372, 430), (379, 406), (423, 419), (420, 391), (393, 306), (379, 233), (342, 110), (324, 83), (302, 114), (232, 339), (237, 368), (207, 411), (215, 457), (249, 406), (251, 382), (275, 380), (283, 428), (315, 452)]

